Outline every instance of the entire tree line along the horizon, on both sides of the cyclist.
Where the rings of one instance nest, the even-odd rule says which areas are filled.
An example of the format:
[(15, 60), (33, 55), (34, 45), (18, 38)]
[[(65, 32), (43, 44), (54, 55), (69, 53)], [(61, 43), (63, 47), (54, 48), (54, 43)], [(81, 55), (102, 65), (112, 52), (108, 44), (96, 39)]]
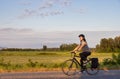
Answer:
[[(47, 45), (43, 45), (43, 48), (32, 49), (32, 48), (3, 48), (2, 51), (71, 51), (78, 44), (61, 44), (58, 48), (48, 48)], [(96, 45), (96, 48), (91, 48), (92, 51), (96, 52), (120, 52), (120, 36), (115, 38), (103, 38), (100, 44)]]

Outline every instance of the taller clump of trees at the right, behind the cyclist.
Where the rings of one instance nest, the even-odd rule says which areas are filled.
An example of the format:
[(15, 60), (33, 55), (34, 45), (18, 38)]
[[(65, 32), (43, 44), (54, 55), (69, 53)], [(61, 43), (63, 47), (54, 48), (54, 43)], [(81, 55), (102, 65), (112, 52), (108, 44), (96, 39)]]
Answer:
[(120, 36), (115, 38), (103, 38), (100, 44), (96, 45), (98, 52), (120, 52)]

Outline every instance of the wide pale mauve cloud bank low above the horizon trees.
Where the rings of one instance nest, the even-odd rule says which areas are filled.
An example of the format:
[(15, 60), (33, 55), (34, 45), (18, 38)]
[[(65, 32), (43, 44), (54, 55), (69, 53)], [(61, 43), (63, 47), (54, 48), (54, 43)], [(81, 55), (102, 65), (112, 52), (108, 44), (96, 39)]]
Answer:
[(2, 28), (0, 29), (0, 47), (42, 48), (59, 47), (62, 43), (78, 43), (79, 34), (85, 34), (90, 47), (99, 44), (101, 38), (114, 38), (120, 31), (59, 31), (36, 32), (32, 29)]

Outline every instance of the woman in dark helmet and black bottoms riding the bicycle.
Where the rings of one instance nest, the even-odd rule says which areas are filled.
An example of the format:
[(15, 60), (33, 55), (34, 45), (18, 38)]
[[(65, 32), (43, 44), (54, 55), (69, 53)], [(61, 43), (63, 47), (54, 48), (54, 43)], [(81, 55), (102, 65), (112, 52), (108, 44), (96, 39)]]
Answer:
[(78, 37), (80, 39), (80, 44), (72, 52), (76, 53), (76, 52), (82, 50), (82, 53), (80, 53), (79, 55), (81, 57), (81, 60), (80, 60), (81, 67), (82, 67), (82, 69), (84, 69), (83, 61), (87, 59), (87, 56), (89, 56), (91, 54), (91, 52), (90, 52), (90, 49), (88, 47), (85, 36), (83, 34), (80, 34)]

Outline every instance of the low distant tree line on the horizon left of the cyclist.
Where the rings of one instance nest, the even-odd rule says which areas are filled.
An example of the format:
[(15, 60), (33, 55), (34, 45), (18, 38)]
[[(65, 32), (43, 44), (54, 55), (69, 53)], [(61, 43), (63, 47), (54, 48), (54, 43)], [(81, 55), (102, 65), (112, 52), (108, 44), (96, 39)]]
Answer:
[(43, 48), (32, 49), (32, 48), (3, 48), (1, 51), (71, 51), (77, 46), (73, 44), (61, 44), (59, 48), (48, 48), (47, 45), (43, 45)]

